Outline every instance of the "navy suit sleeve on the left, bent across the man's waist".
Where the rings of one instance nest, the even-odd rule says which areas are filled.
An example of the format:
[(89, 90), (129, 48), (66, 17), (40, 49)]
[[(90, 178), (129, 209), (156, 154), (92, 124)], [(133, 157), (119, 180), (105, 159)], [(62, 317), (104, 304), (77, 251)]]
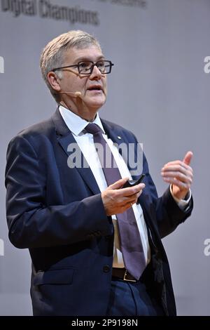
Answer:
[(23, 136), (14, 138), (8, 145), (6, 164), (6, 216), (13, 245), (57, 246), (113, 235), (101, 194), (46, 206), (46, 176), (31, 143)]

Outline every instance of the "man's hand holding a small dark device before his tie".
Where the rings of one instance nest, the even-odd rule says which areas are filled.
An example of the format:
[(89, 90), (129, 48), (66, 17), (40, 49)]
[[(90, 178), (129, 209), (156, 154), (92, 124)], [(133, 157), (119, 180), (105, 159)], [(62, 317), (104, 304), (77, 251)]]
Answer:
[(123, 188), (123, 185), (129, 178), (123, 178), (102, 192), (102, 202), (107, 216), (113, 216), (113, 214), (123, 213), (129, 209), (132, 204), (137, 203), (142, 190), (145, 187), (144, 183), (139, 183), (134, 187)]

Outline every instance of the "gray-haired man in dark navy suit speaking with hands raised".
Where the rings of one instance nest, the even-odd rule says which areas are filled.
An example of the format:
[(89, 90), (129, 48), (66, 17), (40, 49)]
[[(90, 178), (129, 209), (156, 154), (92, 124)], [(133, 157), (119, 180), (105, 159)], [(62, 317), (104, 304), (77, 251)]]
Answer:
[[(9, 238), (31, 255), (34, 315), (176, 315), (161, 238), (193, 209), (193, 154), (162, 168), (170, 186), (160, 198), (144, 154), (144, 183), (123, 187), (132, 169), (117, 145), (134, 146), (137, 157), (138, 143), (130, 131), (99, 118), (112, 66), (90, 34), (71, 31), (50, 41), (41, 70), (59, 106), (8, 146)], [(94, 133), (87, 130), (90, 123), (116, 161), (121, 177), (112, 184), (100, 166)], [(133, 174), (137, 179), (141, 172)], [(141, 242), (132, 266), (123, 246), (128, 232), (123, 238), (120, 215), (125, 214), (134, 217), (131, 250)], [(132, 242), (134, 232), (139, 242)], [(140, 263), (141, 271), (133, 271)]]

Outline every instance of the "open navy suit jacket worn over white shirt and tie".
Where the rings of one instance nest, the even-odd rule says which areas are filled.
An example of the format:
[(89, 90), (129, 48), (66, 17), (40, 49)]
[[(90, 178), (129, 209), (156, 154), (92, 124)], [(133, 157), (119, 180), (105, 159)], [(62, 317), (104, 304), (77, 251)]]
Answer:
[[(137, 144), (124, 128), (102, 120), (115, 143)], [(29, 249), (34, 315), (106, 315), (113, 263), (113, 224), (90, 168), (67, 166), (76, 143), (59, 110), (20, 132), (8, 145), (6, 207), (9, 238)], [(181, 211), (169, 189), (158, 198), (144, 156), (146, 187), (139, 197), (154, 251), (152, 267), (166, 315), (176, 315), (161, 238), (192, 211)]]

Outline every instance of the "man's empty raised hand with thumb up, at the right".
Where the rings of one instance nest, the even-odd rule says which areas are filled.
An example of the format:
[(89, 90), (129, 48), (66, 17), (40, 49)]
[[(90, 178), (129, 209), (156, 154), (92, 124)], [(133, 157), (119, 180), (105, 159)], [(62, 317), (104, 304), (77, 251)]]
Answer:
[(170, 161), (161, 170), (163, 180), (172, 184), (172, 191), (177, 199), (185, 199), (193, 183), (193, 169), (190, 167), (192, 157), (193, 152), (188, 151), (183, 161)]

